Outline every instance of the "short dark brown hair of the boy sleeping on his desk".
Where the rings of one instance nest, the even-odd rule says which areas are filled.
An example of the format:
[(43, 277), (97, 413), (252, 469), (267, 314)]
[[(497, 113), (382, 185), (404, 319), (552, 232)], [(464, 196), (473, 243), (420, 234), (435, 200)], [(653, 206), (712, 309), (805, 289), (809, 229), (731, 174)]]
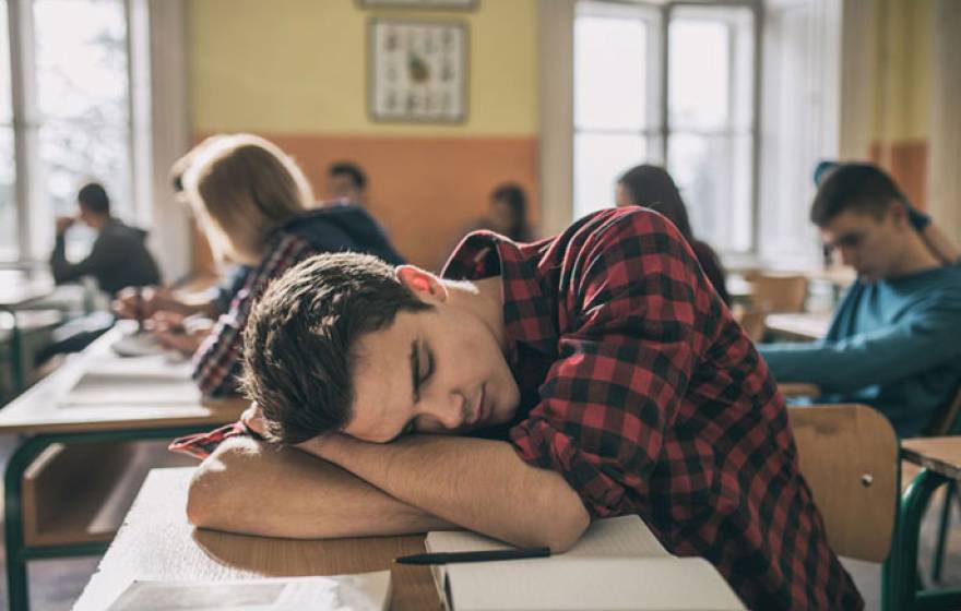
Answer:
[(268, 439), (295, 444), (343, 429), (357, 340), (399, 312), (430, 308), (369, 254), (319, 254), (272, 283), (244, 331), (241, 376), (263, 410)]

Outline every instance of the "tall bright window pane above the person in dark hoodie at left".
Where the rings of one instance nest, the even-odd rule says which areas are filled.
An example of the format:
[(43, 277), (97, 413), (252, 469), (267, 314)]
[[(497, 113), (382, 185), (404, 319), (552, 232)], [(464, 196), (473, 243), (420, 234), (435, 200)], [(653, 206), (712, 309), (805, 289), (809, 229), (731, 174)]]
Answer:
[[(130, 216), (127, 22), (122, 0), (35, 0), (39, 161), (47, 214), (73, 214), (78, 188), (104, 183)], [(51, 219), (36, 219), (50, 224)]]

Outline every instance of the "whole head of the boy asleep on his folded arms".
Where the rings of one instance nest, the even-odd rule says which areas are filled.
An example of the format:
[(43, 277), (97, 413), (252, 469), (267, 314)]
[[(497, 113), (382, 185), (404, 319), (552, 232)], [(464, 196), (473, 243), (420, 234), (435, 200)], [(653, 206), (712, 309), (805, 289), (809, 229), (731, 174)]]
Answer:
[(289, 269), (244, 332), (244, 388), (269, 434), (387, 442), (509, 421), (518, 385), (495, 331), (454, 297), (470, 288), (357, 253)]

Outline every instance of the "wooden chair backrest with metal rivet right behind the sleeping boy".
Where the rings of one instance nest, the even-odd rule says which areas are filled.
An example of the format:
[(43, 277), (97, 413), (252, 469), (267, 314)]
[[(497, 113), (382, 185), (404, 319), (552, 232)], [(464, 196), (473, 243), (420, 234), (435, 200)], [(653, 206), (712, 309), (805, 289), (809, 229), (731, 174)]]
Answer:
[(864, 405), (787, 410), (800, 472), (824, 518), (835, 553), (883, 562), (898, 502), (899, 442), (878, 411)]

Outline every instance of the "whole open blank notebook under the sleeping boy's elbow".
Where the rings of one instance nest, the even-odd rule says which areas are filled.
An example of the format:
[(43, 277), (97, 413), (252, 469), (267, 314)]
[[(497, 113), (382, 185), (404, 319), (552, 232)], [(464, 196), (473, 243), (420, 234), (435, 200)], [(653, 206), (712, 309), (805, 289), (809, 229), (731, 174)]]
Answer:
[[(427, 551), (509, 546), (467, 531), (427, 535)], [(711, 563), (671, 555), (638, 516), (595, 520), (567, 553), (435, 565), (449, 611), (743, 610)]]

